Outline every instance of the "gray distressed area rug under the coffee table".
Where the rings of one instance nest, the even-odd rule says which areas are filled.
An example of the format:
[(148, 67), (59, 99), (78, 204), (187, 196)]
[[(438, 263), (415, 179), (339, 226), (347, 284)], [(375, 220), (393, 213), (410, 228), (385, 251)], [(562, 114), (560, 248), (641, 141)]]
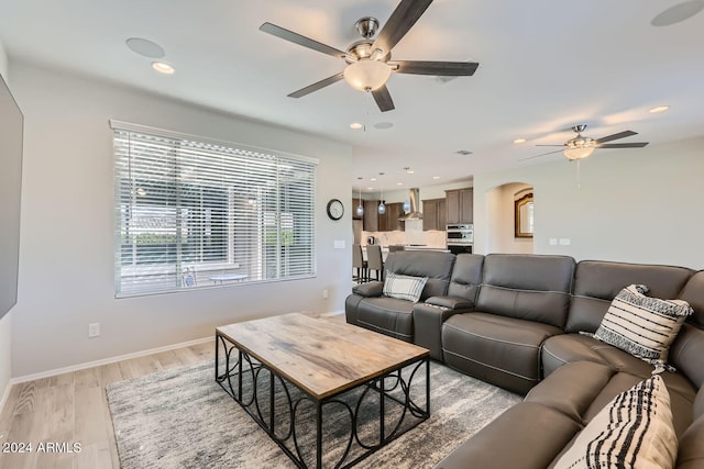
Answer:
[[(424, 381), (425, 371), (420, 375), (417, 379)], [(430, 418), (355, 467), (430, 468), (521, 400), (519, 395), (437, 362), (430, 364)], [(211, 361), (116, 382), (108, 386), (107, 393), (123, 469), (295, 468), (268, 435), (216, 383)], [(364, 405), (377, 409), (378, 401), (374, 402), (372, 394), (365, 398)], [(358, 398), (359, 394), (350, 393), (354, 402)], [(419, 401), (422, 403), (424, 398)], [(349, 420), (323, 415), (330, 422), (343, 422), (342, 425)], [(387, 427), (395, 424), (399, 412), (391, 409), (388, 415)], [(378, 428), (375, 421), (371, 422), (369, 425), (362, 422), (363, 442), (370, 438), (369, 432)], [(277, 426), (288, 428), (286, 422)], [(305, 423), (301, 428), (299, 443), (307, 448), (314, 432), (307, 432)], [(324, 467), (332, 467), (344, 450), (345, 444), (336, 443), (340, 440), (334, 440), (333, 434), (345, 433), (349, 435), (349, 431), (323, 426)], [(342, 436), (343, 442), (344, 438)], [(306, 460), (312, 462), (312, 459)]]

